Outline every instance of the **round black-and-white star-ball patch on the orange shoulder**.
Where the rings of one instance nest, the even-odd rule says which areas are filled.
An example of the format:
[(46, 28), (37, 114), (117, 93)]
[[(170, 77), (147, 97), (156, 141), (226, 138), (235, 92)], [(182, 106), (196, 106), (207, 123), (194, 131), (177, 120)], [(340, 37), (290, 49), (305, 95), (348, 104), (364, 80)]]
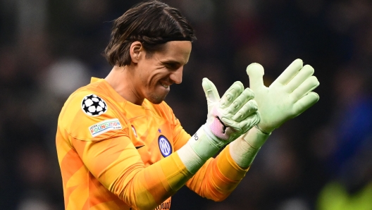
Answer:
[(89, 94), (82, 99), (82, 111), (89, 116), (100, 116), (107, 111), (107, 105), (104, 99), (96, 94)]

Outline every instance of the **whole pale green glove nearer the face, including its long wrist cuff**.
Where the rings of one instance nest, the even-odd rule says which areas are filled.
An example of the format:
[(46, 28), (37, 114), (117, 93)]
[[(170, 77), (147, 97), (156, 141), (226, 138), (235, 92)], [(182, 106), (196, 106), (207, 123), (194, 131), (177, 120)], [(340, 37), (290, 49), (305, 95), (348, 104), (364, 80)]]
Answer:
[(180, 159), (192, 173), (260, 121), (254, 93), (244, 89), (242, 82), (231, 85), (221, 99), (213, 82), (204, 78), (202, 85), (208, 104), (206, 123), (178, 150)]

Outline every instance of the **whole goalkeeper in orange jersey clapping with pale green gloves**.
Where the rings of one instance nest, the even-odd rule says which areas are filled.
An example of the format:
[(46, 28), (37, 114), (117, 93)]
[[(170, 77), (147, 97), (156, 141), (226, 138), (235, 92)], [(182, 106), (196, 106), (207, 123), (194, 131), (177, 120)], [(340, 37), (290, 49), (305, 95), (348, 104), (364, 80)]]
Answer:
[(183, 185), (221, 201), (271, 132), (318, 100), (314, 70), (301, 60), (271, 87), (254, 63), (247, 68), (251, 87), (235, 82), (221, 98), (204, 78), (206, 123), (190, 136), (163, 99), (182, 82), (194, 39), (179, 11), (159, 1), (114, 21), (105, 50), (113, 69), (71, 94), (58, 118), (66, 209), (170, 209)]

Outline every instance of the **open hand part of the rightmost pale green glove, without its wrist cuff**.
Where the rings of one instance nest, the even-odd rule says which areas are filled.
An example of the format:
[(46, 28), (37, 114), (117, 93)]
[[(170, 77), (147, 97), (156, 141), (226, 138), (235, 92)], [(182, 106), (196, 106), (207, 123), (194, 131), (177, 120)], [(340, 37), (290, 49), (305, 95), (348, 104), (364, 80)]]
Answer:
[(319, 100), (318, 94), (311, 92), (319, 85), (313, 76), (314, 68), (302, 65), (301, 59), (293, 61), (270, 87), (263, 85), (264, 72), (259, 63), (247, 67), (249, 87), (256, 94), (261, 114), (261, 122), (257, 125), (261, 132), (271, 133)]

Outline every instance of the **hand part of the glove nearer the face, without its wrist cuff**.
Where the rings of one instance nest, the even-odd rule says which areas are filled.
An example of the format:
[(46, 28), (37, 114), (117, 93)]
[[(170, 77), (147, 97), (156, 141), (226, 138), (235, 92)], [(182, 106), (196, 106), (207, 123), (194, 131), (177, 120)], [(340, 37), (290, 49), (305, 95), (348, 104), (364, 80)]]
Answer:
[[(259, 123), (257, 103), (251, 89), (244, 89), (242, 82), (234, 82), (220, 99), (216, 86), (208, 80), (202, 82), (208, 115), (204, 129), (223, 146), (232, 142), (240, 133), (247, 132)], [(223, 140), (223, 141), (221, 141)]]

